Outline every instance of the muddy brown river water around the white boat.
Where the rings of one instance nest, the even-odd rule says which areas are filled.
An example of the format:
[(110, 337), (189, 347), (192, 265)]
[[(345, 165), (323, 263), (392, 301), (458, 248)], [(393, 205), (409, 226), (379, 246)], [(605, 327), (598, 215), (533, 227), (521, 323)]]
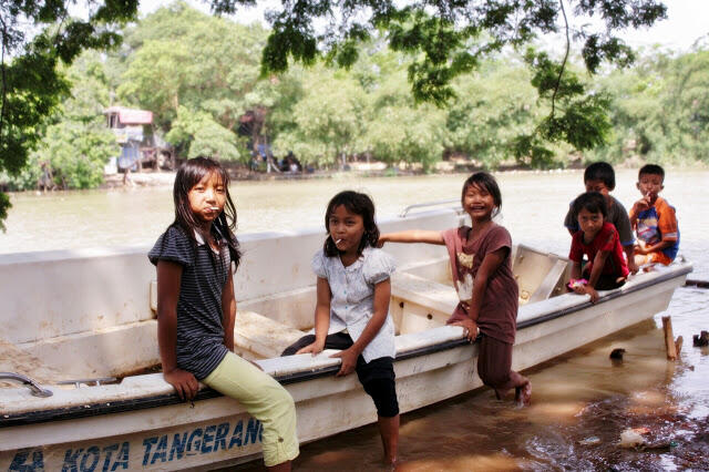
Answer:
[[(369, 193), (379, 218), (414, 203), (459, 198), (464, 175), (310, 181), (237, 182), (230, 187), (238, 234), (321, 227), (338, 191)], [(568, 202), (583, 191), (583, 172), (503, 173), (503, 220), (515, 243), (566, 255), (562, 225)], [(613, 193), (626, 207), (639, 197), (636, 171), (617, 173)], [(665, 196), (677, 208), (680, 254), (693, 279), (709, 279), (707, 171), (669, 171)], [(130, 188), (11, 196), (0, 254), (93, 246), (150, 246), (173, 217), (169, 188)], [(701, 215), (705, 215), (703, 217)], [(238, 276), (238, 274), (237, 274)], [(655, 320), (586, 346), (528, 374), (533, 403), (515, 409), (487, 389), (402, 415), (400, 469), (439, 470), (707, 470), (709, 456), (709, 349), (691, 337), (709, 330), (709, 290), (684, 287), (665, 314), (685, 346), (680, 360), (665, 360)], [(626, 349), (621, 365), (608, 353)], [(626, 428), (647, 428), (664, 449), (617, 447)], [(669, 444), (669, 445), (667, 445)], [(376, 425), (305, 444), (297, 470), (377, 470), (381, 444)], [(260, 470), (260, 465), (239, 469)]]

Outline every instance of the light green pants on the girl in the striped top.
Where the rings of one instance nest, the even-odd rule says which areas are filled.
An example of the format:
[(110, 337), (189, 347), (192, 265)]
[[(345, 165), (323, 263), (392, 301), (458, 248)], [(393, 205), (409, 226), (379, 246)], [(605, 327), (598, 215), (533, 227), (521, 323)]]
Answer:
[(296, 404), (290, 393), (268, 373), (234, 352), (228, 352), (204, 383), (238, 400), (251, 417), (264, 424), (266, 466), (298, 456)]

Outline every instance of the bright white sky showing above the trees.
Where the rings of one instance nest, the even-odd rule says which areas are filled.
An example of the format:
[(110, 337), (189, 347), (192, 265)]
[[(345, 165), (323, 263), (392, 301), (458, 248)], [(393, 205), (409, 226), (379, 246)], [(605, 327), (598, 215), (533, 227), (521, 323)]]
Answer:
[[(208, 0), (187, 0), (188, 3), (204, 12), (209, 12)], [(141, 0), (141, 14), (145, 16), (155, 11), (161, 6), (168, 4), (169, 0)], [(255, 8), (244, 8), (233, 18), (243, 23), (264, 21), (264, 10), (269, 7), (277, 8), (279, 0), (259, 0)], [(628, 30), (621, 38), (631, 47), (653, 47), (659, 44), (674, 51), (689, 51), (695, 41), (709, 34), (709, 0), (664, 0), (667, 6), (667, 20), (657, 22), (653, 28)], [(266, 7), (264, 7), (266, 6)], [(709, 37), (705, 40), (709, 43)]]

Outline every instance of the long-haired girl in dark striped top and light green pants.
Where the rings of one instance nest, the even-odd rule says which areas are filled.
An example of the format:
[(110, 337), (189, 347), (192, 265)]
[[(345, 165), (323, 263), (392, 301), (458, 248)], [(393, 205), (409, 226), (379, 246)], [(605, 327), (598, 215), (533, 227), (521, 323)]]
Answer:
[(263, 425), (264, 463), (288, 471), (299, 453), (296, 408), (273, 377), (234, 353), (234, 271), (239, 245), (229, 176), (217, 161), (196, 157), (175, 176), (175, 220), (148, 254), (157, 267), (157, 341), (163, 376), (179, 398), (198, 380), (239, 401)]

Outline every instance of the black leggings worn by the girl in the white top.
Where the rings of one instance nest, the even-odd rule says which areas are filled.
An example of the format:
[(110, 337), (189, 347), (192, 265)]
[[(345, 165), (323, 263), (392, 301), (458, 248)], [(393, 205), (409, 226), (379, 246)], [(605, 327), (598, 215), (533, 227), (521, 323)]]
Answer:
[[(292, 356), (298, 352), (298, 350), (314, 342), (315, 335), (304, 336), (288, 346), (281, 356)], [(336, 332), (325, 339), (325, 349), (345, 350), (352, 345), (352, 338), (345, 332)], [(360, 355), (360, 357), (357, 358), (357, 367), (354, 370), (364, 391), (374, 400), (377, 414), (383, 418), (393, 418), (399, 414), (393, 359), (390, 357), (380, 357), (368, 363)]]

